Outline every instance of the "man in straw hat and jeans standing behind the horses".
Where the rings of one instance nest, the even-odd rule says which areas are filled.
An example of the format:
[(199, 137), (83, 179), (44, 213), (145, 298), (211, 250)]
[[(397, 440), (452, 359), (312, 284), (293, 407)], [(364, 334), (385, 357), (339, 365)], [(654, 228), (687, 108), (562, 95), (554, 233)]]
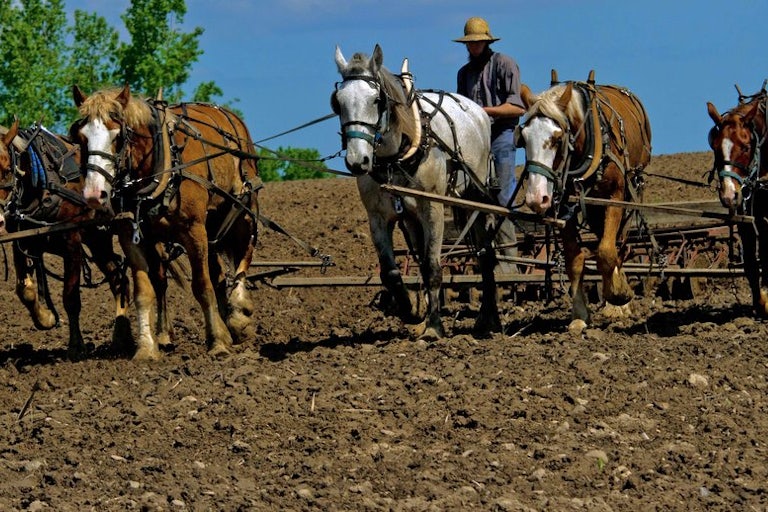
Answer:
[[(491, 35), (488, 22), (483, 18), (469, 18), (464, 25), (464, 36), (454, 39), (463, 43), (469, 53), (469, 62), (459, 69), (456, 92), (483, 107), (491, 118), (491, 151), (499, 180), (498, 201), (508, 206), (517, 185), (515, 177), (515, 127), (525, 114), (520, 97), (520, 69), (517, 62), (503, 53), (491, 50), (498, 41)], [(515, 241), (514, 225), (504, 222), (497, 242), (508, 245)], [(507, 256), (516, 251), (502, 250)], [(510, 270), (503, 268), (502, 270)]]

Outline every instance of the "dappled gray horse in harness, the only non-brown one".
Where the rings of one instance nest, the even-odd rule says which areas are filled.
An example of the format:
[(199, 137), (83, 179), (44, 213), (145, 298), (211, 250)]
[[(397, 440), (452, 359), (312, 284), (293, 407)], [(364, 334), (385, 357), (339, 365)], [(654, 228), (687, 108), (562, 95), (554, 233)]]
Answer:
[[(355, 53), (349, 62), (336, 47), (342, 81), (336, 85), (331, 104), (341, 122), (347, 169), (357, 177), (368, 213), (382, 283), (394, 298), (403, 322), (415, 325), (414, 332), (421, 339), (435, 340), (444, 335), (439, 300), (444, 206), (393, 195), (380, 185), (491, 201), (487, 190), (490, 120), (480, 106), (463, 96), (415, 90), (407, 60), (401, 75), (388, 71), (382, 61), (378, 44), (370, 58)], [(490, 220), (482, 214), (469, 217), (472, 224), (467, 231), (483, 277), (475, 333), (487, 335), (501, 330), (493, 275), (496, 257), (488, 230)], [(410, 294), (403, 283), (392, 244), (398, 223), (419, 262), (426, 294)]]

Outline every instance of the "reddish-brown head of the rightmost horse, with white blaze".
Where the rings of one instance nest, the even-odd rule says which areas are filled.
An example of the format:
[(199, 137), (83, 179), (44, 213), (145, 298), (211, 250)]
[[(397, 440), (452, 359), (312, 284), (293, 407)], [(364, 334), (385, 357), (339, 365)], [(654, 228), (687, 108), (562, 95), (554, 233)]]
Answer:
[(758, 115), (761, 105), (765, 109), (765, 100), (765, 95), (759, 96), (722, 115), (707, 102), (707, 112), (715, 123), (709, 132), (709, 145), (715, 157), (713, 172), (718, 177), (720, 202), (731, 211), (742, 206), (757, 179), (768, 171), (761, 165), (760, 147), (766, 137), (765, 114)]

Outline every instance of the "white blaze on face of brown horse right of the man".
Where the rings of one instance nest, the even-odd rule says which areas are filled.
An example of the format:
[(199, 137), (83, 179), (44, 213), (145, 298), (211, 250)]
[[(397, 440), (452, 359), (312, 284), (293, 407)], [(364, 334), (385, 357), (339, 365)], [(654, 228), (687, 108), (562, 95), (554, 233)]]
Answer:
[[(558, 145), (553, 141), (562, 137), (563, 131), (552, 119), (534, 117), (522, 129), (525, 140), (525, 159), (552, 168)], [(543, 215), (552, 206), (554, 183), (541, 174), (528, 174), (525, 204)]]

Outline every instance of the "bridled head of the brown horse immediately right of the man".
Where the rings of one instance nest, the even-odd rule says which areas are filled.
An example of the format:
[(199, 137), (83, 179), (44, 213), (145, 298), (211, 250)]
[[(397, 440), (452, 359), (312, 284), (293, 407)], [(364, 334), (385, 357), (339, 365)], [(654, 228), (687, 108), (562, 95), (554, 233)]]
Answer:
[(523, 85), (521, 96), (527, 111), (519, 131), (528, 176), (525, 204), (543, 215), (554, 205), (567, 158), (570, 122), (566, 111), (574, 97), (573, 85), (555, 85), (538, 96)]

